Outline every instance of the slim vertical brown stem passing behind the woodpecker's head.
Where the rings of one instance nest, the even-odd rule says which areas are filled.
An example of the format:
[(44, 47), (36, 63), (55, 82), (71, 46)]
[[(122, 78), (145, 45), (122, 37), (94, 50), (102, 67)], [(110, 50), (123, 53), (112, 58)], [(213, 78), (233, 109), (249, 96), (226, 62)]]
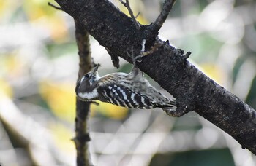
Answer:
[[(78, 80), (83, 74), (91, 70), (91, 51), (89, 43), (89, 33), (85, 28), (81, 28), (75, 21), (75, 38), (78, 44), (79, 71)], [(77, 149), (77, 165), (92, 165), (89, 154), (89, 127), (88, 119), (90, 112), (90, 103), (76, 99), (75, 116), (75, 147)]]

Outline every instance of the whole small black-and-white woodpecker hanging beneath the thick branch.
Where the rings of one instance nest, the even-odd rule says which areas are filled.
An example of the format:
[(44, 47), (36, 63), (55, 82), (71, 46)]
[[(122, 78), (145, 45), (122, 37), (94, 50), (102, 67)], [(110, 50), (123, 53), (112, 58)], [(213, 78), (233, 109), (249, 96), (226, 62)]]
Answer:
[(85, 74), (75, 88), (80, 100), (112, 103), (127, 108), (162, 108), (176, 110), (176, 102), (166, 98), (143, 77), (143, 72), (134, 66), (129, 74), (117, 72), (100, 77), (97, 69)]

